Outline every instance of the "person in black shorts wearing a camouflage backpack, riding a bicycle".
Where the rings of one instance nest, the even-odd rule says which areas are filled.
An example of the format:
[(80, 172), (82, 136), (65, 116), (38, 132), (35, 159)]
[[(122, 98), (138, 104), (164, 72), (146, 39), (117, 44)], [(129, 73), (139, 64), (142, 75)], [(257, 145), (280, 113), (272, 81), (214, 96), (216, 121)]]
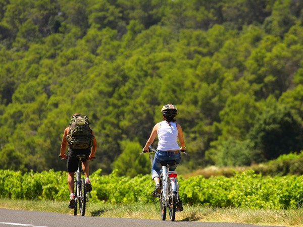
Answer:
[[(97, 141), (94, 137), (93, 131), (89, 127), (89, 121), (87, 116), (80, 113), (74, 113), (70, 121), (69, 127), (64, 130), (60, 157), (67, 159), (67, 183), (70, 191), (69, 208), (75, 207), (75, 195), (74, 195), (74, 175), (78, 169), (79, 154), (85, 154), (86, 158), (82, 159), (82, 169), (85, 175), (86, 191), (92, 190), (89, 180), (89, 163), (88, 160), (94, 158)], [(68, 155), (65, 154), (66, 147), (68, 146)]]

